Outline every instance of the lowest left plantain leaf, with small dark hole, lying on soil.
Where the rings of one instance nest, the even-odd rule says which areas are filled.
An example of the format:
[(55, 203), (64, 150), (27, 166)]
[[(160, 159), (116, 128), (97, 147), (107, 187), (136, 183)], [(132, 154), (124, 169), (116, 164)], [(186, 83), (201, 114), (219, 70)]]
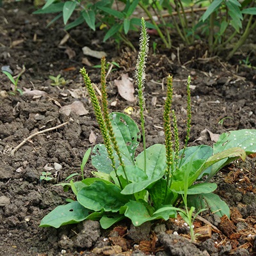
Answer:
[(59, 205), (42, 219), (39, 227), (59, 228), (62, 225), (79, 223), (90, 215), (89, 212), (77, 201)]

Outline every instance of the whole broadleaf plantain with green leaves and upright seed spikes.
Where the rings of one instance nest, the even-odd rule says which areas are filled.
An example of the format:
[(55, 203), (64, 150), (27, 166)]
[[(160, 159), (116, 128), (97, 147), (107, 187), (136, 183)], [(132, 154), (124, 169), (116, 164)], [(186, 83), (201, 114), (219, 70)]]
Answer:
[[(135, 226), (140, 226), (146, 221), (176, 218), (179, 212), (188, 223), (191, 239), (194, 240), (193, 220), (196, 214), (209, 209), (219, 216), (230, 216), (228, 205), (212, 193), (217, 185), (209, 180), (234, 159), (244, 160), (246, 154), (256, 152), (256, 131), (224, 133), (213, 147), (188, 147), (191, 129), (191, 78), (188, 77), (187, 135), (185, 146), (180, 149), (176, 116), (172, 110), (172, 76), (168, 76), (163, 113), (165, 145), (155, 144), (147, 148), (143, 114), (147, 54), (148, 35), (145, 20), (142, 18), (140, 53), (136, 65), (143, 134), (143, 152), (140, 154), (136, 154), (141, 140), (138, 125), (124, 113), (108, 111), (105, 58), (101, 61), (101, 104), (90, 77), (84, 68), (81, 69), (104, 139), (104, 144), (96, 145), (92, 150), (92, 164), (97, 172), (92, 172), (95, 177), (83, 177), (83, 180), (77, 182), (71, 180), (70, 187), (76, 201), (56, 207), (42, 219), (40, 227), (58, 228), (90, 219), (99, 220), (102, 228), (109, 228), (124, 218), (129, 218)], [(87, 160), (88, 152), (86, 154)], [(208, 175), (207, 179), (200, 182), (204, 175)], [(193, 215), (194, 211), (196, 212)]]

